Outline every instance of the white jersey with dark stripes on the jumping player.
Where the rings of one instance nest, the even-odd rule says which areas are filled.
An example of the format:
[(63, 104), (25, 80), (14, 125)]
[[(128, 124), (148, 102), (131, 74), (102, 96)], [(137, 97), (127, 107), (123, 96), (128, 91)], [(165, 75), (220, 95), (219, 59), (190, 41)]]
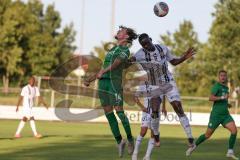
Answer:
[(153, 52), (141, 48), (133, 56), (147, 72), (150, 85), (168, 83), (173, 80), (173, 76), (168, 70), (168, 62), (173, 60), (175, 56), (164, 45), (154, 44), (154, 46), (155, 51)]

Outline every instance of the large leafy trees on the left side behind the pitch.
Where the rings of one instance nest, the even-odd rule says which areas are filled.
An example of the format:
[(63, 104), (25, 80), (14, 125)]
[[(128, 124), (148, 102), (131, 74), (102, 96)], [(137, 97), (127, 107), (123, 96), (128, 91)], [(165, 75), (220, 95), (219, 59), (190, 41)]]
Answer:
[(0, 77), (4, 92), (29, 75), (47, 76), (75, 50), (73, 24), (61, 29), (54, 5), (39, 0), (0, 1)]

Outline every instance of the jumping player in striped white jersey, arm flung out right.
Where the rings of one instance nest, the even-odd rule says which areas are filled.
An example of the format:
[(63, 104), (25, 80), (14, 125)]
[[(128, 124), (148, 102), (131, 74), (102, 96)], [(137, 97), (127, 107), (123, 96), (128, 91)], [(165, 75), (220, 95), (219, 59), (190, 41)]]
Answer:
[[(148, 83), (153, 86), (158, 86), (161, 90), (160, 95), (166, 95), (166, 98), (172, 105), (174, 111), (177, 113), (180, 123), (184, 128), (184, 131), (188, 137), (188, 142), (190, 146), (193, 146), (193, 136), (189, 120), (185, 115), (180, 94), (176, 83), (173, 79), (172, 74), (168, 70), (168, 62), (172, 65), (178, 65), (185, 60), (191, 58), (195, 51), (193, 48), (189, 48), (181, 57), (175, 57), (171, 54), (169, 49), (160, 44), (153, 44), (152, 39), (143, 33), (139, 36), (139, 43), (143, 48), (136, 52), (131, 58), (131, 62), (137, 62), (142, 65), (143, 69), (147, 72)], [(158, 134), (158, 121), (159, 121), (159, 107), (158, 98), (159, 95), (151, 98), (152, 104), (152, 121), (151, 128), (154, 132), (154, 136), (157, 137)], [(157, 141), (157, 139), (155, 139)]]

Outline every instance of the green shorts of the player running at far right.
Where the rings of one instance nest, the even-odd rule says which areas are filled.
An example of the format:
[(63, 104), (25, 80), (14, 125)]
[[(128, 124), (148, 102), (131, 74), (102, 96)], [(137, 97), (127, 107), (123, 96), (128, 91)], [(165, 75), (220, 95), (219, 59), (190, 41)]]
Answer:
[(229, 122), (234, 122), (232, 116), (230, 114), (226, 114), (226, 115), (210, 115), (209, 118), (209, 123), (208, 123), (208, 128), (211, 129), (216, 129), (220, 124), (225, 127), (226, 124), (228, 124)]

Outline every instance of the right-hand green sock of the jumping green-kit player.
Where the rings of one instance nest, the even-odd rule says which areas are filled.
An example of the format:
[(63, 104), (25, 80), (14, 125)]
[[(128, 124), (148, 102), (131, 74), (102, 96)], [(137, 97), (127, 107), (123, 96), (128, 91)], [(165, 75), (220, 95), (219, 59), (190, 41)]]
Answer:
[(117, 115), (123, 124), (123, 128), (127, 134), (128, 141), (133, 142), (132, 132), (127, 116), (124, 114), (124, 111), (118, 111)]

